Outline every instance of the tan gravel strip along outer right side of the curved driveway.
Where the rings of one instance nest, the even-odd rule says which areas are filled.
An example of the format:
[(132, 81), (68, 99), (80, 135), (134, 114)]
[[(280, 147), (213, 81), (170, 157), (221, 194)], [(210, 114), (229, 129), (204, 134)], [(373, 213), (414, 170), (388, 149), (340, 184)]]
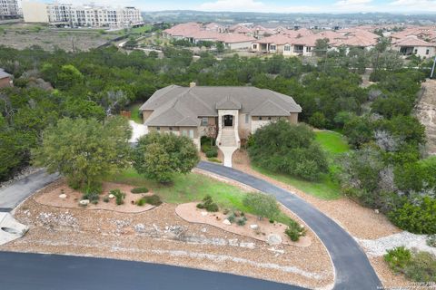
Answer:
[(271, 179), (250, 167), (250, 160), (246, 151), (237, 150), (233, 154), (233, 168), (242, 170), (255, 177), (267, 180), (282, 189), (287, 189), (299, 197), (311, 203), (315, 208), (320, 209), (324, 214), (332, 218), (339, 225), (345, 228), (352, 236), (364, 239), (376, 239), (400, 233), (401, 229), (395, 227), (382, 214), (377, 214), (370, 208), (363, 208), (350, 198), (339, 198), (335, 200), (322, 200), (315, 198), (302, 190)]

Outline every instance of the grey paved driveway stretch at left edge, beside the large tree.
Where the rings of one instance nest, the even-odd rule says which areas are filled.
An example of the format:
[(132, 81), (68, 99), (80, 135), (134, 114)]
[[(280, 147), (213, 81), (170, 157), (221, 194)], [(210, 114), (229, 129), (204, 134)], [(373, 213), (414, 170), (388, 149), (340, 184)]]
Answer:
[(0, 211), (11, 211), (36, 190), (43, 189), (56, 179), (59, 179), (57, 174), (48, 175), (41, 169), (5, 189), (0, 189)]

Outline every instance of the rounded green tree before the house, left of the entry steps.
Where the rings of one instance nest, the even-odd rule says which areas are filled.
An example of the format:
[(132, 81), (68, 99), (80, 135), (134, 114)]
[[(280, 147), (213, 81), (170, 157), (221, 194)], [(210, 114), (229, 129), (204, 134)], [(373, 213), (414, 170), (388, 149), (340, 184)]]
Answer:
[(193, 140), (185, 136), (151, 132), (138, 140), (134, 169), (148, 179), (170, 182), (173, 173), (188, 173), (199, 161)]

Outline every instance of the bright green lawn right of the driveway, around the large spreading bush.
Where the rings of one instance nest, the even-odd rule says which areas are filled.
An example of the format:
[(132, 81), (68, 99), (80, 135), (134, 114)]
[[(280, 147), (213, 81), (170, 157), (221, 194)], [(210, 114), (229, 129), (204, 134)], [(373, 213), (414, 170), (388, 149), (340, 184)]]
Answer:
[[(350, 150), (347, 141), (340, 133), (333, 131), (316, 131), (315, 135), (316, 141), (320, 144), (322, 150), (324, 150), (327, 154), (327, 160), (330, 164), (329, 169), (331, 172), (334, 172), (337, 169), (337, 167), (334, 165), (335, 157)], [(316, 198), (329, 200), (341, 198), (342, 196), (339, 184), (333, 181), (329, 174), (324, 174), (319, 181), (314, 182), (294, 178), (281, 173), (271, 172), (254, 165), (252, 165), (252, 168), (263, 175), (281, 181), (285, 184), (289, 184), (292, 187), (300, 189)]]

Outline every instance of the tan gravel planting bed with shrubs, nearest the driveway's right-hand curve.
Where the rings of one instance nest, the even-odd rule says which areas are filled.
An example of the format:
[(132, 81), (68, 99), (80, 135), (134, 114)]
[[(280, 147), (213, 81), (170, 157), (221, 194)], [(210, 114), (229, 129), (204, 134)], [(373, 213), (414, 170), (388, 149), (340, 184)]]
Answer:
[[(213, 227), (219, 227), (225, 231), (233, 234), (242, 235), (244, 237), (252, 237), (263, 242), (268, 242), (269, 235), (278, 235), (282, 238), (282, 243), (296, 247), (309, 247), (312, 245), (310, 237), (301, 237), (298, 242), (292, 240), (284, 234), (286, 225), (281, 223), (270, 223), (267, 218), (259, 220), (251, 214), (244, 214), (247, 219), (244, 226), (238, 226), (236, 222), (231, 225), (223, 224), (223, 221), (228, 217), (222, 212), (208, 213), (203, 209), (196, 208), (197, 203), (190, 202), (177, 206), (175, 213), (186, 221), (191, 223), (207, 224)], [(238, 217), (241, 218), (241, 217)], [(255, 225), (257, 228), (253, 229), (250, 226)]]

